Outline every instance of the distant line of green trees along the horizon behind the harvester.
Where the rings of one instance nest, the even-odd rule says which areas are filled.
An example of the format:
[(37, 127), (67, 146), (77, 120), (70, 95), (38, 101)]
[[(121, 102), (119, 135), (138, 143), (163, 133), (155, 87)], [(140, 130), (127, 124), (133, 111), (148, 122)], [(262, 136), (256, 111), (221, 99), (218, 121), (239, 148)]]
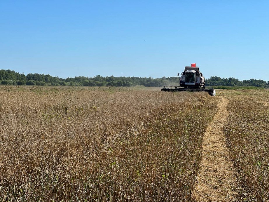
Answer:
[[(221, 78), (211, 76), (205, 80), (206, 86), (256, 86), (269, 88), (269, 81), (261, 79), (250, 79), (239, 81), (233, 77)], [(179, 77), (163, 77), (153, 79), (151, 77), (115, 77), (115, 76), (75, 76), (66, 79), (49, 74), (27, 74), (18, 73), (12, 70), (0, 70), (0, 84), (2, 85), (37, 85), (37, 86), (149, 86), (163, 87), (165, 85), (179, 85)]]

